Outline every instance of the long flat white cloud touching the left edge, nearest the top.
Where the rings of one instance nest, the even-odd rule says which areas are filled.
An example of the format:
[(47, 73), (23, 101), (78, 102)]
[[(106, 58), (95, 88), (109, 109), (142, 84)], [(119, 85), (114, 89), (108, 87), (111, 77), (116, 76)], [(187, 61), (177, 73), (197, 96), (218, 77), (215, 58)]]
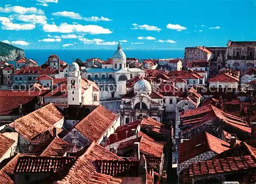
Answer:
[(18, 14), (39, 14), (39, 15), (45, 14), (44, 11), (42, 11), (41, 9), (36, 9), (34, 7), (25, 8), (21, 6), (5, 6), (5, 8), (0, 7), (0, 12), (5, 12), (5, 13), (14, 12)]

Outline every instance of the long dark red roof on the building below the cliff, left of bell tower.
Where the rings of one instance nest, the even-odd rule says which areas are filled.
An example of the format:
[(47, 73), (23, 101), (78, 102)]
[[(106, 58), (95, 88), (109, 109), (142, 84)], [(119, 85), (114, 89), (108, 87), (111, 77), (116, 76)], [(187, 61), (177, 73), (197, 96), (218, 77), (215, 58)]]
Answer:
[(48, 66), (47, 68), (41, 68), (41, 66), (32, 66), (32, 67), (24, 67), (20, 70), (17, 70), (13, 75), (35, 75), (35, 74), (57, 74), (58, 70), (53, 69), (52, 67)]

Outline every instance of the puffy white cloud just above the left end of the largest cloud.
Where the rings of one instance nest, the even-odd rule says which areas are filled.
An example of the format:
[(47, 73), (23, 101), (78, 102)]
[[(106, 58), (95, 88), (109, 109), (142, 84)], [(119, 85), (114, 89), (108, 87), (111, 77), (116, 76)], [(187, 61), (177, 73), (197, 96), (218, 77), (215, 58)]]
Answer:
[(24, 22), (30, 22), (33, 24), (39, 23), (39, 24), (46, 24), (47, 23), (47, 18), (44, 15), (15, 15), (15, 19), (24, 21)]

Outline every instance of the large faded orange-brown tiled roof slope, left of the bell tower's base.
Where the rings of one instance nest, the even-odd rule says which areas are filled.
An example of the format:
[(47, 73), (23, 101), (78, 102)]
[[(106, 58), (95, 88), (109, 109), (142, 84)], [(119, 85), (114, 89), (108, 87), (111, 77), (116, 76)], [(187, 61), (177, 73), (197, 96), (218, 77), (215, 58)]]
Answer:
[(26, 116), (14, 120), (9, 126), (25, 139), (31, 141), (35, 136), (52, 128), (63, 118), (53, 103), (48, 104)]

